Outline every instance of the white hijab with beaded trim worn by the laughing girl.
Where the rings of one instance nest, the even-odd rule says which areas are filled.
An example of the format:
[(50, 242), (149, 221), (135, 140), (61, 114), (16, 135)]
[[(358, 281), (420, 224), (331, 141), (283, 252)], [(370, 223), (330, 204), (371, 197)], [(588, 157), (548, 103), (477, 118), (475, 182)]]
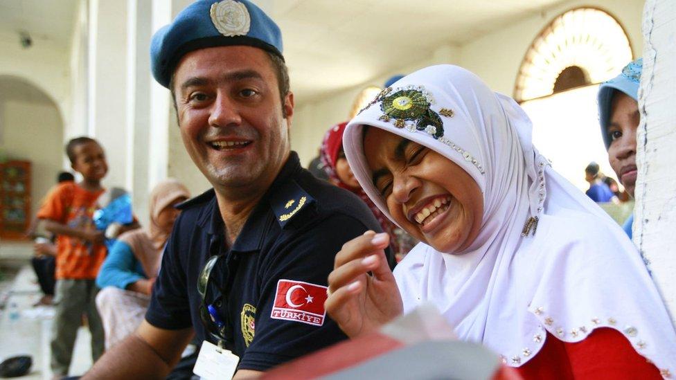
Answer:
[[(425, 123), (400, 112), (428, 104)], [(676, 373), (676, 332), (639, 253), (537, 152), (531, 120), (514, 100), (465, 69), (440, 65), (402, 78), (351, 120), (344, 134), (350, 167), (393, 219), (371, 182), (363, 125), (443, 154), (483, 193), (481, 230), (462, 255), (420, 243), (397, 266), (404, 311), (434, 303), (461, 339), (487, 345), (515, 367), (537, 354), (546, 332), (577, 342), (611, 327), (660, 370)]]

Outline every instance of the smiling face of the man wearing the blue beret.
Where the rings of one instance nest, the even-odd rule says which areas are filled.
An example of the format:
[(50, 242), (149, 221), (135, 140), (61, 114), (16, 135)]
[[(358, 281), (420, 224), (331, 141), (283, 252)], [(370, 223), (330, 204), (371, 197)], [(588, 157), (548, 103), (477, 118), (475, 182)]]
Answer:
[(182, 58), (174, 75), (181, 137), (197, 168), (217, 190), (267, 188), (288, 158), (294, 107), (292, 93), (280, 99), (267, 53), (251, 46), (199, 49)]

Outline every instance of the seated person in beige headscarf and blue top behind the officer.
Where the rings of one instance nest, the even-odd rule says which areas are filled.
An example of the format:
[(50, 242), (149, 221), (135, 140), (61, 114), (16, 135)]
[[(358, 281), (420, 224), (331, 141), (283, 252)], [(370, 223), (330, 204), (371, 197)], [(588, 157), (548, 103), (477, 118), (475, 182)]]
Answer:
[(105, 347), (112, 347), (139, 327), (150, 303), (164, 244), (179, 215), (175, 206), (190, 197), (179, 181), (167, 179), (150, 192), (150, 226), (123, 233), (96, 278), (96, 297)]

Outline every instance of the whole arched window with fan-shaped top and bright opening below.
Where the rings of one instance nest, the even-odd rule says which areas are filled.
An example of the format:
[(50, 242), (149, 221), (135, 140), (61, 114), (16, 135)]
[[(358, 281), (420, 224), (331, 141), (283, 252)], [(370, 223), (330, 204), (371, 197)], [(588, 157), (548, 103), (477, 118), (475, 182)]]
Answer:
[(614, 172), (601, 137), (598, 84), (614, 78), (632, 60), (629, 39), (603, 10), (577, 8), (555, 17), (524, 57), (514, 98), (533, 120), (533, 144), (580, 190), (585, 167)]

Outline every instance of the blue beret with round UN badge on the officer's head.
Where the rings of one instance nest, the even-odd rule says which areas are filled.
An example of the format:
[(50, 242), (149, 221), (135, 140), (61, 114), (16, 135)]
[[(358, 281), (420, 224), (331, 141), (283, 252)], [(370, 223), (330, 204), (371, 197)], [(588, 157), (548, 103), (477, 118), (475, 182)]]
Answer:
[(247, 45), (284, 59), (282, 33), (263, 10), (248, 0), (197, 0), (152, 36), (152, 76), (169, 88), (181, 57), (201, 48)]

